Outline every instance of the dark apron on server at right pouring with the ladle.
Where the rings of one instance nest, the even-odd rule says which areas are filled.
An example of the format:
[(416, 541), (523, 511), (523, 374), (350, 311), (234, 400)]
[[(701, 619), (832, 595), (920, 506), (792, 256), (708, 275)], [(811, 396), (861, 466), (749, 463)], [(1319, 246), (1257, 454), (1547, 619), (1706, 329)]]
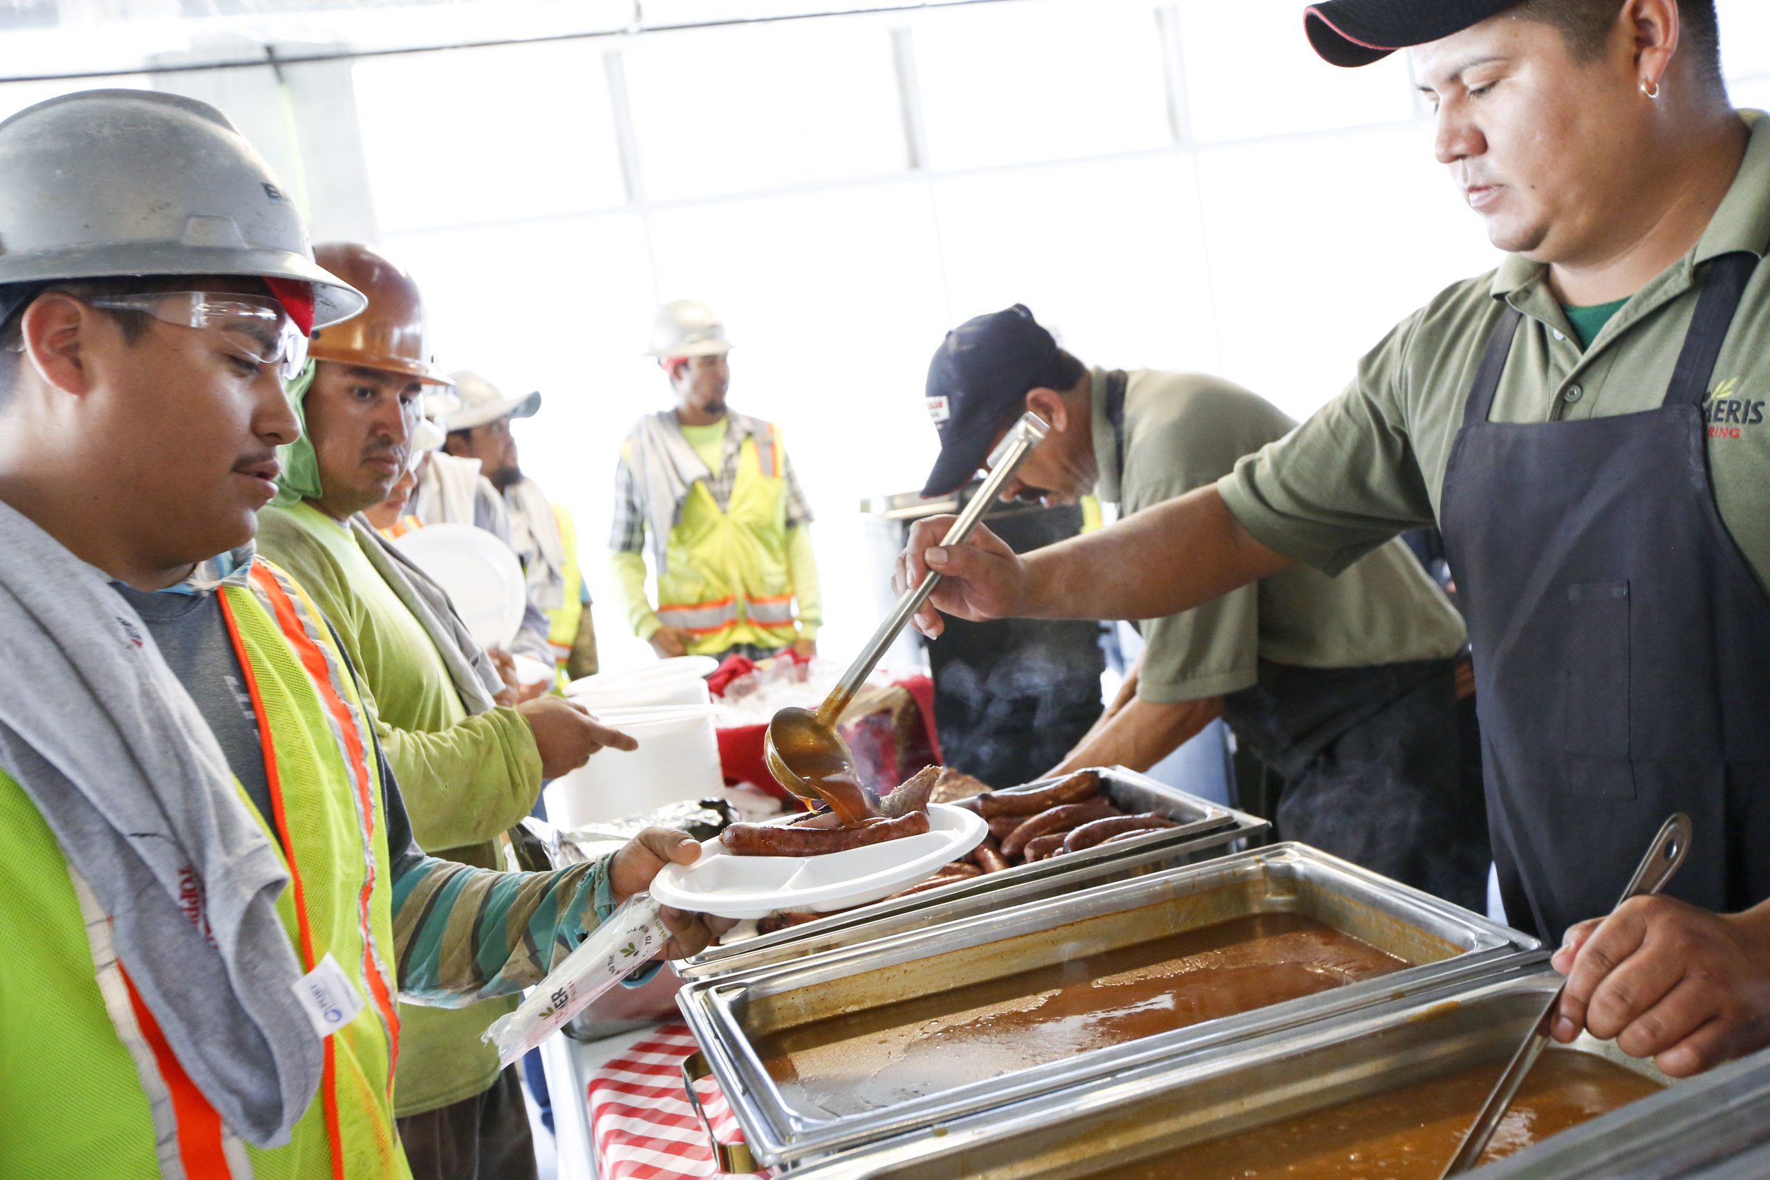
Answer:
[(1696, 835), (1671, 895), (1770, 893), (1770, 598), (1715, 508), (1703, 416), (1754, 264), (1708, 267), (1666, 400), (1639, 414), (1490, 423), (1508, 308), (1451, 446), (1439, 515), (1494, 860), (1512, 923), (1552, 941), (1609, 913), (1676, 810)]

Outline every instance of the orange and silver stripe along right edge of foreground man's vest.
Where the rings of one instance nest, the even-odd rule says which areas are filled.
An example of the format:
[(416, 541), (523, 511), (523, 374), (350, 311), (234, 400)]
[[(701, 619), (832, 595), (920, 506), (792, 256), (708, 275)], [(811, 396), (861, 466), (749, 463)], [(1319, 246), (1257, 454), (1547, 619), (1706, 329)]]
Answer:
[[(338, 667), (331, 651), (322, 642), (319, 633), (322, 624), (315, 623), (312, 610), (297, 609), (296, 605), (301, 591), (266, 561), (253, 563), (251, 580), (271, 607), (283, 637), (296, 649), (296, 656), (299, 656), (301, 665), (306, 669), (308, 679), (313, 681), (324, 706), (326, 722), (331, 727), (333, 741), (338, 743), (338, 754), (350, 773), (350, 800), (356, 805), (358, 831), (363, 837), (363, 888), (358, 893), (358, 927), (363, 936), (363, 978), (368, 982), (370, 992), (373, 992), (375, 1007), (381, 1008), (381, 1019), (388, 1030), (388, 1086), (391, 1093), (391, 1067), (400, 1053), (400, 1017), (395, 1005), (398, 989), (393, 984), (393, 973), (381, 955), (381, 948), (375, 945), (375, 932), (370, 923), (370, 895), (375, 890), (375, 787), (373, 777), (368, 771), (368, 750), (373, 745), (363, 729), (361, 711), (345, 704), (342, 678), (347, 672)], [(257, 706), (257, 693), (253, 695), (253, 706)], [(258, 724), (264, 725), (262, 716)], [(312, 964), (308, 966), (312, 968)]]

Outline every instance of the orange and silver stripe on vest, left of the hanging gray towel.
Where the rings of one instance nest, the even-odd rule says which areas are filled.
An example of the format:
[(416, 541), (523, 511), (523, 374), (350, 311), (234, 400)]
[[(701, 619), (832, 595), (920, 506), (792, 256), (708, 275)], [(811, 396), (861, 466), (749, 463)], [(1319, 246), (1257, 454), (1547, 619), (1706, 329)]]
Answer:
[(117, 1030), (117, 1040), (129, 1051), (142, 1092), (147, 1095), (159, 1175), (165, 1180), (251, 1180), (246, 1146), (221, 1125), (221, 1115), (179, 1065), (154, 1014), (117, 962), (110, 915), (73, 865), (67, 867), (67, 876), (73, 879), (80, 915), (87, 923), (92, 973), (104, 1000), (104, 1012)]

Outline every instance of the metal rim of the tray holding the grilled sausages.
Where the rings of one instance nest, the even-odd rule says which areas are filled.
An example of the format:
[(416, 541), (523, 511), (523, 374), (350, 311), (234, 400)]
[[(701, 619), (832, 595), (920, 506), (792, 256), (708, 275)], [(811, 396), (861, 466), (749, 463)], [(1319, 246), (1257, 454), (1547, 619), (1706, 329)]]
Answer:
[[(1101, 768), (1101, 777), (1106, 798), (1117, 807), (1129, 812), (1161, 812), (1175, 826), (1129, 840), (1097, 844), (1067, 856), (1051, 856), (1030, 865), (986, 872), (910, 897), (857, 906), (772, 934), (708, 946), (692, 959), (676, 962), (676, 973), (685, 980), (731, 975), (979, 913), (997, 913), (1004, 906), (1057, 897), (1103, 881), (1191, 865), (1211, 856), (1255, 847), (1266, 840), (1271, 828), (1258, 816), (1202, 800), (1124, 766)], [(1051, 780), (1014, 789), (1030, 791), (1048, 782)]]

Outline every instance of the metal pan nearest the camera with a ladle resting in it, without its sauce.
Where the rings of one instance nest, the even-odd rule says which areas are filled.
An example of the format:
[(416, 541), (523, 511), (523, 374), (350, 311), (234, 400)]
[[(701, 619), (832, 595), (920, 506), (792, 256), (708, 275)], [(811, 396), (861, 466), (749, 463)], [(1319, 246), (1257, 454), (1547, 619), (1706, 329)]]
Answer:
[[(1543, 998), (1559, 982), (1561, 977), (1543, 971), (1538, 961), (1480, 985), (1439, 989), (1347, 1019), (1250, 1040), (1209, 1060), (1170, 1058), (1094, 1084), (972, 1115), (945, 1123), (935, 1134), (899, 1136), (793, 1175), (795, 1180), (1080, 1180), (1193, 1143), (1258, 1134), (1287, 1118), (1481, 1061), (1501, 1061), (1517, 1047)], [(1650, 1063), (1589, 1037), (1572, 1049), (1597, 1053), (1655, 1081), (1669, 1081)], [(1513, 1171), (1503, 1171), (1510, 1164), (1522, 1164), (1528, 1155), (1582, 1132), (1602, 1134), (1604, 1127), (1614, 1127), (1632, 1111), (1676, 1093), (1643, 1099), (1473, 1175), (1513, 1180)], [(1517, 1175), (1535, 1180), (1574, 1173)]]

